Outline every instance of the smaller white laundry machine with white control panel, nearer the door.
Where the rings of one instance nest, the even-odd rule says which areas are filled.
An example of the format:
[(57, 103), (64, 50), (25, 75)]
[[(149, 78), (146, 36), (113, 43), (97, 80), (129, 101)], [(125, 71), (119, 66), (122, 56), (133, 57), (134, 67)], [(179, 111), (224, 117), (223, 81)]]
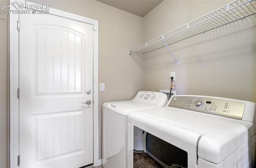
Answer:
[(160, 92), (140, 91), (128, 101), (102, 105), (102, 166), (127, 167), (127, 116), (130, 112), (163, 107), (167, 96)]

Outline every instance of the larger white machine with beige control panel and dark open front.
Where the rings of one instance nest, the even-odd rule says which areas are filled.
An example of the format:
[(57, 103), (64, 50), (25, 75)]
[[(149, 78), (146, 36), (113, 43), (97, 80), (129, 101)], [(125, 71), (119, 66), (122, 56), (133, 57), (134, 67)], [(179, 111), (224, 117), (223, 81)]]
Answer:
[[(210, 96), (175, 95), (162, 108), (128, 115), (128, 168), (133, 168), (133, 132), (138, 127), (169, 147), (166, 164), (180, 168), (255, 168), (256, 104)], [(147, 135), (148, 136), (148, 135)], [(150, 147), (154, 152), (154, 148)], [(166, 151), (167, 150), (167, 151)]]

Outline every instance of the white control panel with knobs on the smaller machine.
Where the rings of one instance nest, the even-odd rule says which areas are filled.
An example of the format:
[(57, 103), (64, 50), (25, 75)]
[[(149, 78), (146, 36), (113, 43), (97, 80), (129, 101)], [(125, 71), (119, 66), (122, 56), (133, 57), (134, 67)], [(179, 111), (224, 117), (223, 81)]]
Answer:
[(164, 104), (163, 106), (165, 106), (165, 104), (168, 101), (168, 98), (164, 93), (140, 91), (137, 93), (133, 100), (155, 105)]

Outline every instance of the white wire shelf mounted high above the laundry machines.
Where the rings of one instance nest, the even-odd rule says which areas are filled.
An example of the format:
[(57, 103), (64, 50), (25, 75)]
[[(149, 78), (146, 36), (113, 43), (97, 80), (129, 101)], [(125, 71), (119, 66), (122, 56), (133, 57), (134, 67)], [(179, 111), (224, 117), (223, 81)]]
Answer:
[(253, 14), (256, 14), (256, 0), (235, 0), (184, 26), (176, 28), (132, 50), (128, 50), (128, 52), (129, 54), (134, 52), (145, 54), (159, 48), (167, 47), (166, 44), (169, 46), (181, 40), (196, 36), (197, 34), (244, 19)]

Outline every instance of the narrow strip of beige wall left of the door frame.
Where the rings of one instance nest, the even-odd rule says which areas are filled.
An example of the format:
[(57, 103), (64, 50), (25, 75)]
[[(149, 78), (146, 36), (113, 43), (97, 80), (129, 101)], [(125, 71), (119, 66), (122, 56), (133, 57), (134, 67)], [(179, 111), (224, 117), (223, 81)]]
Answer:
[[(0, 0), (0, 8), (9, 4)], [(0, 168), (9, 166), (8, 16), (0, 14)]]

